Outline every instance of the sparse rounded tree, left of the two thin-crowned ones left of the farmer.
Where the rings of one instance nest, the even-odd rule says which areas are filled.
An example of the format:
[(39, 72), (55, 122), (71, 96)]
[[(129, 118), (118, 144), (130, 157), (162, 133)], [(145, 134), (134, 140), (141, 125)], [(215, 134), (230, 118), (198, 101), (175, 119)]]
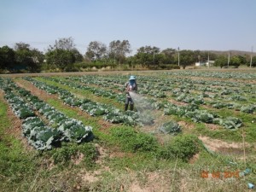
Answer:
[(87, 47), (87, 51), (85, 55), (91, 61), (101, 60), (104, 55), (107, 54), (107, 46), (106, 44), (102, 44), (99, 41), (92, 41)]

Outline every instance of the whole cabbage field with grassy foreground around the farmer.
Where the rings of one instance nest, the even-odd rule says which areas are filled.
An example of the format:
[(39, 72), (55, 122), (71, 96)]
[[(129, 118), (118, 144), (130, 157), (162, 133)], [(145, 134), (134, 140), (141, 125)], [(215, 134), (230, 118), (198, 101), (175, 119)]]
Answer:
[[(125, 112), (130, 74), (136, 109)], [(0, 77), (0, 97), (2, 189), (249, 191), (256, 184), (255, 70), (10, 75)]]

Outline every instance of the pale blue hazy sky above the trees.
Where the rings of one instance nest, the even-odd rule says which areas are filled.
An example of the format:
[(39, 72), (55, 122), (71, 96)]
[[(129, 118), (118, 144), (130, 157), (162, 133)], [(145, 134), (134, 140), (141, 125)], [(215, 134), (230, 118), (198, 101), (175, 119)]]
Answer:
[(256, 49), (256, 0), (0, 0), (0, 47), (24, 42), (45, 51), (72, 37), (129, 40), (139, 47)]

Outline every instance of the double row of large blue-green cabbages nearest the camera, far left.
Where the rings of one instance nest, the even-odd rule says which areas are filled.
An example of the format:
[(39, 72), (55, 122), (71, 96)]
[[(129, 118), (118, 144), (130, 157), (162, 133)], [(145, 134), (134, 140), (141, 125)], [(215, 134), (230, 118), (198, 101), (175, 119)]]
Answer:
[(82, 143), (92, 139), (91, 126), (67, 118), (11, 79), (0, 79), (0, 89), (13, 112), (22, 119), (22, 135), (34, 148), (44, 150), (60, 146), (61, 142)]

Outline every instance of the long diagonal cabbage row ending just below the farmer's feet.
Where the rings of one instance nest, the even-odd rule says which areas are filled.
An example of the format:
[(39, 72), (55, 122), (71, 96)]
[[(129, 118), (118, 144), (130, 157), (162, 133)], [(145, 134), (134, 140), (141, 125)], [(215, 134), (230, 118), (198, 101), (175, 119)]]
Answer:
[(151, 125), (154, 123), (153, 118), (147, 113), (137, 113), (134, 111), (120, 110), (111, 105), (100, 102), (93, 102), (90, 99), (80, 99), (74, 96), (70, 91), (61, 89), (60, 87), (46, 84), (32, 78), (25, 78), (41, 90), (45, 90), (49, 94), (58, 94), (59, 98), (67, 105), (79, 107), (91, 116), (102, 116), (103, 119), (113, 124), (125, 125)]

